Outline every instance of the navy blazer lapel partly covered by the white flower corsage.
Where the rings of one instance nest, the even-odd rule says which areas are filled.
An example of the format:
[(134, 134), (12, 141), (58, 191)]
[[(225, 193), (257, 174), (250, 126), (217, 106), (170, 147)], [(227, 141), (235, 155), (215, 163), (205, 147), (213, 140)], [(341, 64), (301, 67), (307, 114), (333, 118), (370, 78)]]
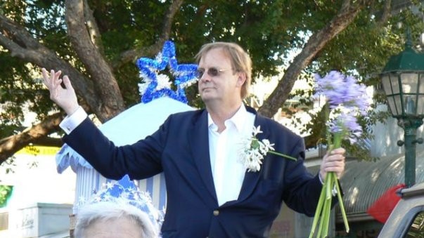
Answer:
[[(246, 107), (248, 110), (250, 109), (249, 107)], [(249, 112), (252, 112), (251, 110), (249, 110)], [(256, 114), (255, 111), (253, 111), (253, 113)], [(266, 131), (266, 127), (264, 126), (264, 117), (256, 114), (255, 117), (255, 126), (261, 126), (261, 131), (263, 131), (263, 133), (259, 133), (257, 135), (258, 140), (262, 140), (264, 138), (268, 137), (269, 132)], [(243, 201), (245, 199), (247, 199), (250, 194), (253, 192), (253, 190), (255, 189), (259, 178), (261, 177), (262, 174), (262, 166), (261, 169), (257, 172), (248, 172), (248, 170), (246, 169), (245, 172), (245, 178), (243, 180), (243, 185), (241, 186), (241, 190), (240, 190), (240, 195), (238, 195), (238, 200), (237, 201)]]

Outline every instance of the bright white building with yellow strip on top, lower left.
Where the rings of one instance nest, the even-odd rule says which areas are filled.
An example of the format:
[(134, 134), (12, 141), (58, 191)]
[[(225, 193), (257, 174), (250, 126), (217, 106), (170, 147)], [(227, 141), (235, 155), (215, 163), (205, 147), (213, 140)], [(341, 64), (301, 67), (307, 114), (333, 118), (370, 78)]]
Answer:
[(69, 237), (75, 174), (58, 174), (54, 147), (26, 147), (15, 154), (13, 172), (0, 166), (0, 185), (13, 186), (0, 208), (0, 237)]

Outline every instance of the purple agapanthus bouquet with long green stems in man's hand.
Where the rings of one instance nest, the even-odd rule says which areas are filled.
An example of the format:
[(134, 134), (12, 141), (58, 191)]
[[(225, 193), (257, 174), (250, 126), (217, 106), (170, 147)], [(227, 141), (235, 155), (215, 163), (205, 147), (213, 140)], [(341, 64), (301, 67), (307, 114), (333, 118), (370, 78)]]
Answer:
[[(315, 79), (315, 96), (323, 96), (327, 101), (324, 110), (327, 112), (328, 119), (326, 123), (328, 150), (340, 147), (342, 140), (345, 139), (349, 140), (350, 143), (355, 143), (362, 133), (362, 127), (358, 124), (357, 117), (366, 115), (371, 101), (366, 93), (366, 86), (359, 84), (354, 77), (345, 76), (337, 71), (331, 71), (325, 77), (315, 74)], [(334, 172), (330, 172), (327, 173), (324, 180), (309, 237), (314, 237), (318, 222), (316, 237), (327, 237), (333, 190), (336, 191), (338, 196), (346, 232), (349, 232), (338, 178)]]

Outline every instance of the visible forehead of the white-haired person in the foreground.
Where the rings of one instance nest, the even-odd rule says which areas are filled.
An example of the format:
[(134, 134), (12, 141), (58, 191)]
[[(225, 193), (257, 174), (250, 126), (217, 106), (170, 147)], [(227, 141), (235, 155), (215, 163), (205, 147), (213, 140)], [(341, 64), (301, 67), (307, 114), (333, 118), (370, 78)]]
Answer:
[(95, 221), (86, 230), (84, 237), (91, 238), (143, 238), (141, 227), (128, 218), (117, 218), (107, 221)]

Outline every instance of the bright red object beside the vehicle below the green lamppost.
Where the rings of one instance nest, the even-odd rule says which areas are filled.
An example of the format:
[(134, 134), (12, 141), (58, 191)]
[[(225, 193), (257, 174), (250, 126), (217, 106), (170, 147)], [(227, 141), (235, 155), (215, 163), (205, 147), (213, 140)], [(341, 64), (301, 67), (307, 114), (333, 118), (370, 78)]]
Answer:
[(394, 206), (396, 206), (397, 202), (401, 199), (400, 195), (397, 194), (397, 190), (404, 187), (406, 186), (403, 183), (390, 187), (368, 207), (366, 212), (380, 223), (385, 223), (390, 213), (392, 213)]

